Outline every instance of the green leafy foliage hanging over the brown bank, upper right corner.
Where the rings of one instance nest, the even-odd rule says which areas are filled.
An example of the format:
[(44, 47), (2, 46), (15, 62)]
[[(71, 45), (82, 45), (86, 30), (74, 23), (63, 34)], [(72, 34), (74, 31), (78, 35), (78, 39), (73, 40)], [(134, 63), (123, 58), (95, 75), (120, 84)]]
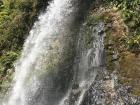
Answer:
[(107, 0), (121, 12), (129, 33), (126, 38), (126, 47), (131, 50), (140, 50), (140, 0)]

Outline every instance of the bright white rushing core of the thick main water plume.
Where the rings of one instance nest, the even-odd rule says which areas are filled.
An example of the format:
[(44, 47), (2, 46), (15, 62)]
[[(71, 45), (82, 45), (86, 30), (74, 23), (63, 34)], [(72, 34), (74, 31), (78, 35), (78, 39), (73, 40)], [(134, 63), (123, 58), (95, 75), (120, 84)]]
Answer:
[[(28, 78), (36, 70), (42, 70), (43, 55), (46, 55), (53, 38), (57, 38), (66, 30), (72, 18), (75, 8), (72, 0), (54, 0), (50, 3), (46, 12), (39, 16), (38, 22), (30, 31), (21, 58), (15, 65), (15, 77), (13, 89), (7, 102), (2, 105), (27, 105)], [(40, 85), (35, 75), (30, 77), (32, 92), (35, 92)], [(47, 104), (47, 103), (46, 103)]]

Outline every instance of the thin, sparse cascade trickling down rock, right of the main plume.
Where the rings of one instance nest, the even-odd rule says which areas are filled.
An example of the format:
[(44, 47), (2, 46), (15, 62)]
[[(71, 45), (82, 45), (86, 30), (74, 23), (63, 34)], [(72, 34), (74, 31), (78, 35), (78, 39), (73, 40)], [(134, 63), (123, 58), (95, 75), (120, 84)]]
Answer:
[[(99, 71), (104, 69), (104, 23), (91, 27), (90, 35), (93, 37), (91, 48), (85, 48), (84, 25), (81, 28), (77, 44), (77, 56), (73, 65), (75, 76), (72, 89), (59, 105), (85, 105), (83, 100), (86, 92), (94, 84)], [(86, 103), (86, 105), (94, 105)]]

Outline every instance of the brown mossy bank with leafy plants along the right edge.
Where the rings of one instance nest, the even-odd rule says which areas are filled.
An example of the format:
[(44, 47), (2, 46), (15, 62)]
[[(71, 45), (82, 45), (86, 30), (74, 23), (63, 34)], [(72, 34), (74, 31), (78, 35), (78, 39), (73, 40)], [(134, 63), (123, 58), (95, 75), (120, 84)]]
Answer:
[[(106, 12), (103, 17), (110, 20), (106, 23), (117, 23), (113, 25), (114, 28), (109, 27), (107, 30), (107, 39), (112, 41), (111, 44), (106, 42), (108, 43), (107, 48), (111, 53), (118, 52), (117, 59), (111, 57), (115, 55), (114, 53), (108, 53), (108, 57), (111, 58), (110, 63), (108, 62), (109, 68), (118, 69), (119, 82), (132, 86), (133, 94), (140, 96), (140, 83), (138, 82), (140, 77), (140, 0), (107, 0), (107, 2), (110, 2), (116, 11), (109, 11), (110, 17)], [(113, 14), (116, 15), (113, 16)], [(115, 20), (114, 17), (116, 17)], [(120, 68), (115, 66), (115, 62), (120, 63)]]

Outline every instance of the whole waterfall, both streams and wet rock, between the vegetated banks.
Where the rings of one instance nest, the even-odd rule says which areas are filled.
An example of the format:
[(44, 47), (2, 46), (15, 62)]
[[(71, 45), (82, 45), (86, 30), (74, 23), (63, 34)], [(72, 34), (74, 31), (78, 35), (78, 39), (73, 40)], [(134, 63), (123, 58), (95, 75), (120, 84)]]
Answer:
[[(112, 39), (119, 26), (114, 27), (112, 15), (111, 22), (104, 20), (104, 14), (110, 17), (114, 10), (98, 4), (104, 2), (50, 0), (29, 32), (12, 86), (0, 105), (140, 105), (140, 98), (131, 96), (132, 87), (119, 83), (121, 57)], [(7, 72), (6, 77), (11, 75)]]

